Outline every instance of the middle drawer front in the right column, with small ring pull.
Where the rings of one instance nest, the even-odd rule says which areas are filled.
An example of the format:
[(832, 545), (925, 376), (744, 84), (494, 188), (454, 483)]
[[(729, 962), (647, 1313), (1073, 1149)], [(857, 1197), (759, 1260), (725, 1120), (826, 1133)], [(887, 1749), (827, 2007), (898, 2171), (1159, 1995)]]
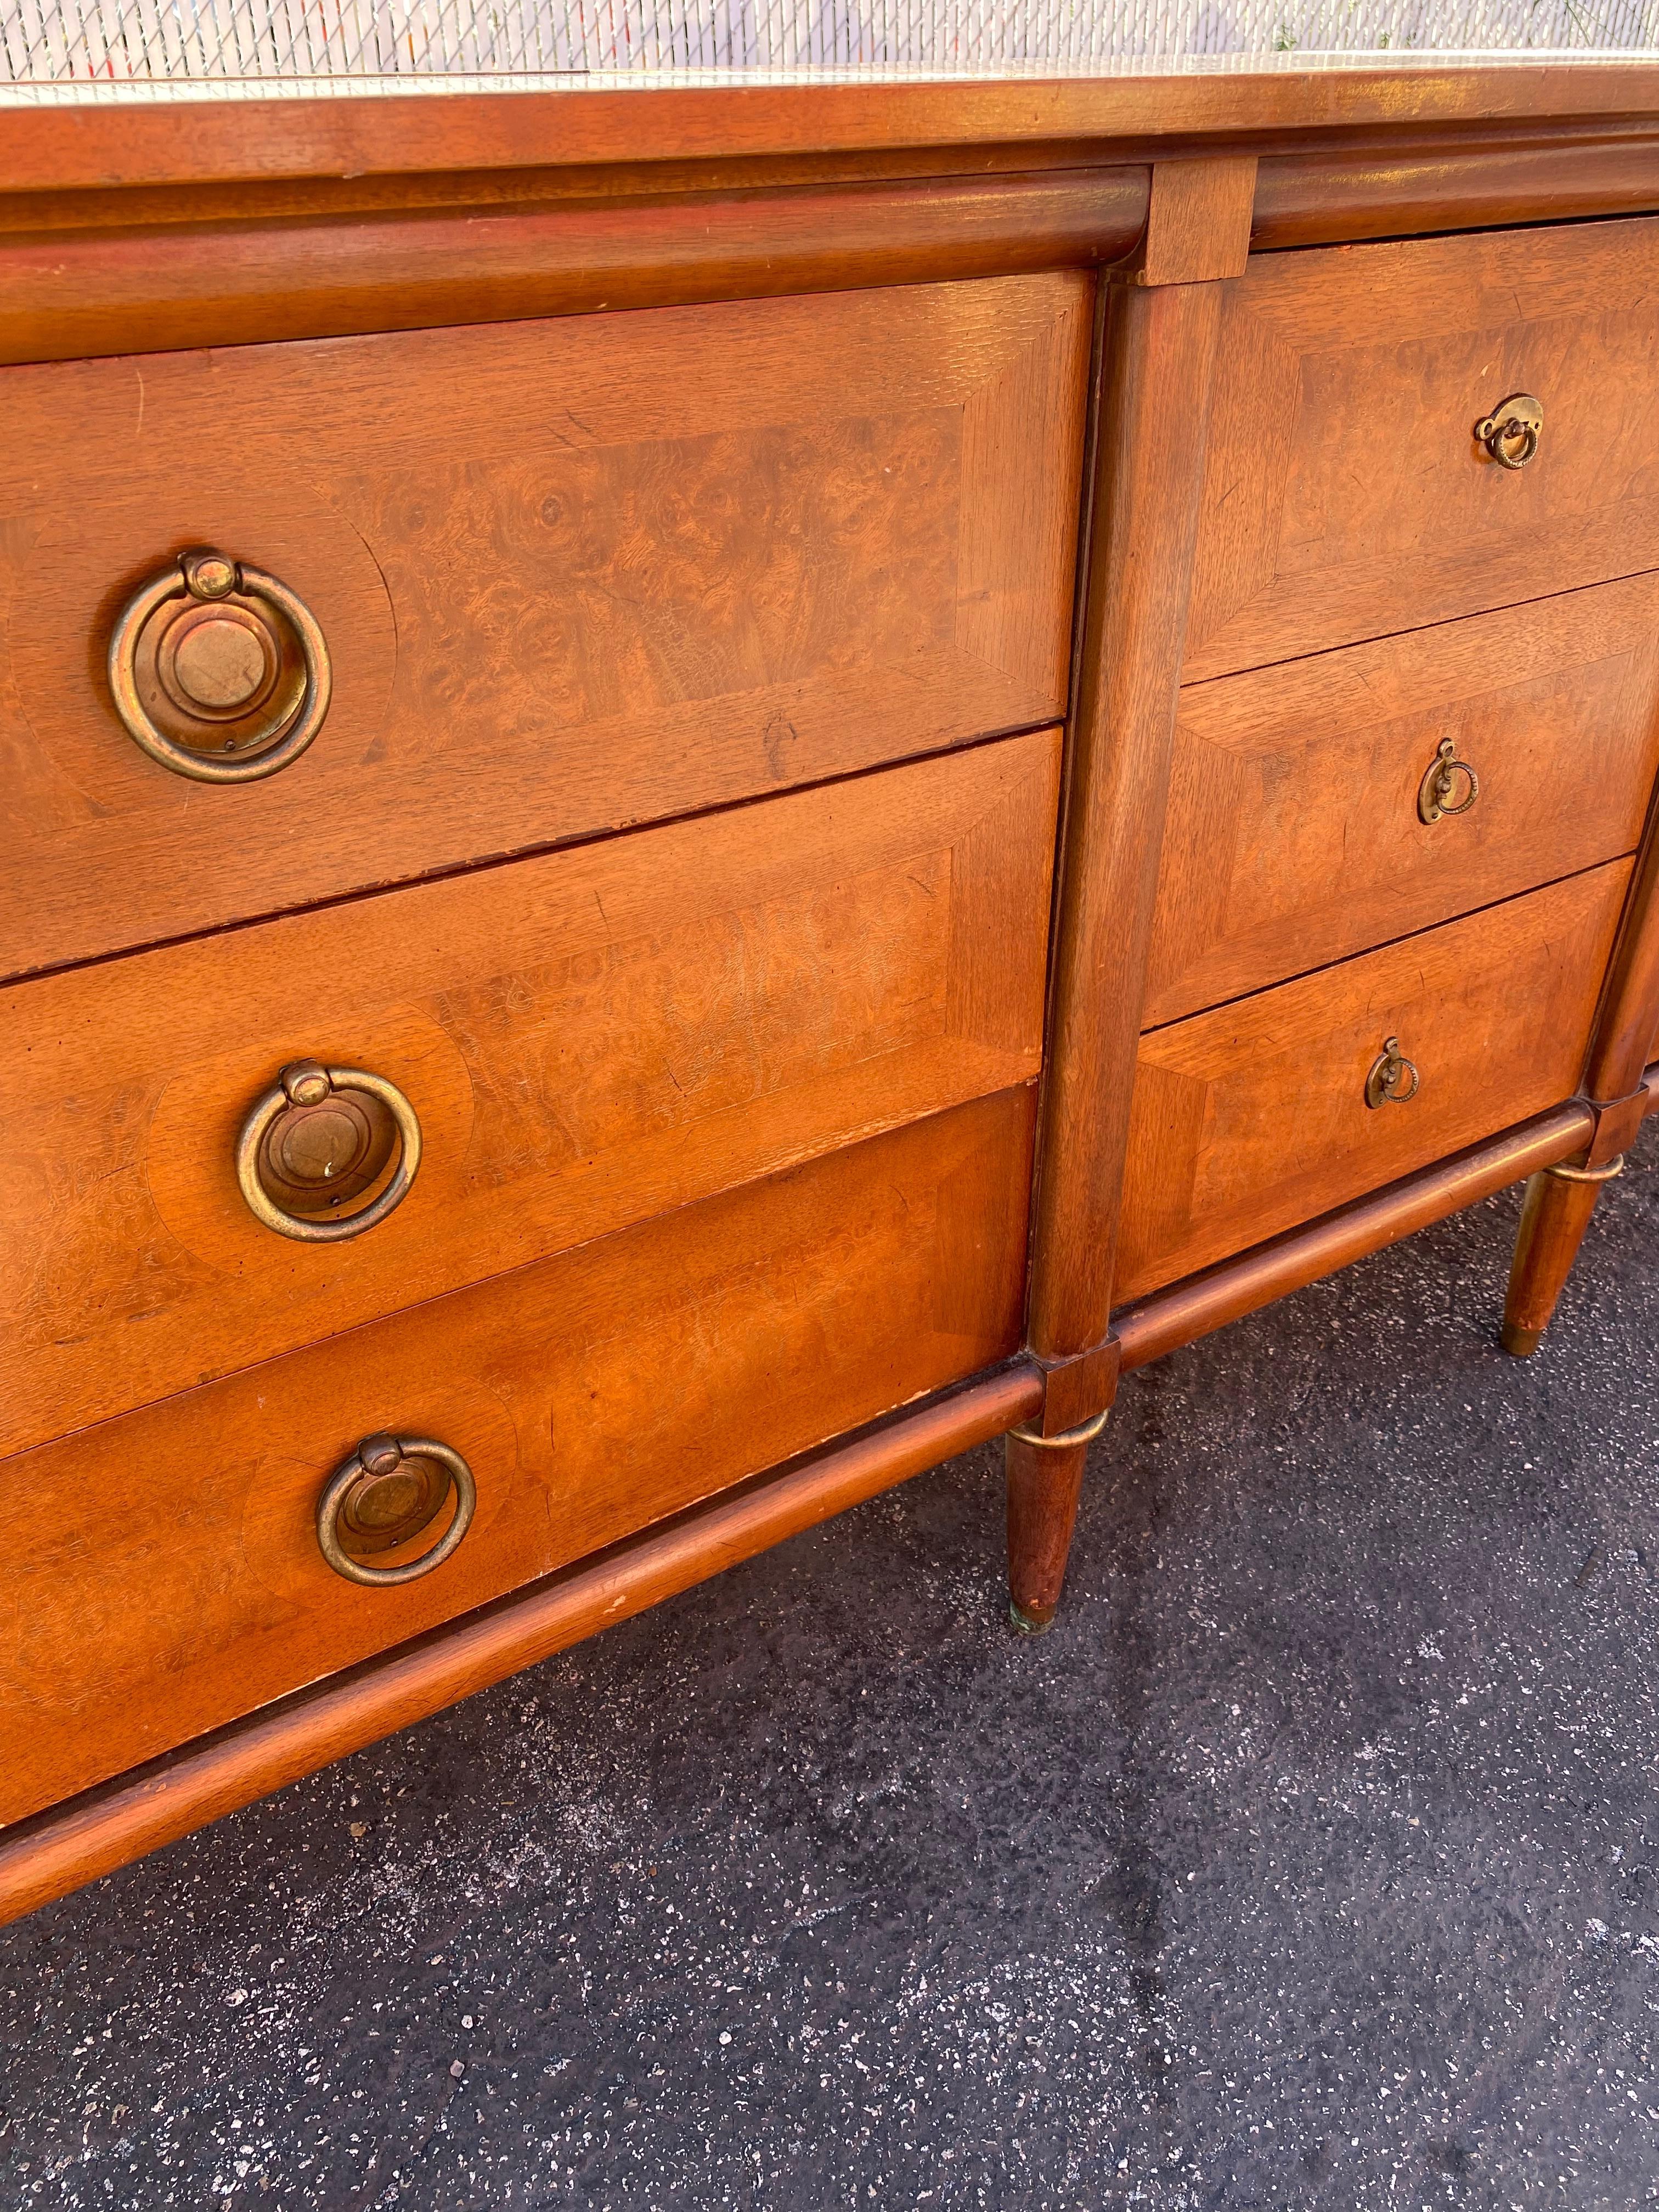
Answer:
[(1655, 575), (1188, 686), (1144, 1024), (1635, 852), (1655, 768)]

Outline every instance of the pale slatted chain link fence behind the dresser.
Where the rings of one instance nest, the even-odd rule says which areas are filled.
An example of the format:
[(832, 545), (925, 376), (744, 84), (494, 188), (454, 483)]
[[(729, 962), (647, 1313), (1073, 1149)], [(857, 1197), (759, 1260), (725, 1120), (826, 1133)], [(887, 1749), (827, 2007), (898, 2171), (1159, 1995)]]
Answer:
[(995, 75), (1203, 55), (1628, 53), (1655, 40), (1659, 0), (0, 0), (0, 100), (69, 84)]

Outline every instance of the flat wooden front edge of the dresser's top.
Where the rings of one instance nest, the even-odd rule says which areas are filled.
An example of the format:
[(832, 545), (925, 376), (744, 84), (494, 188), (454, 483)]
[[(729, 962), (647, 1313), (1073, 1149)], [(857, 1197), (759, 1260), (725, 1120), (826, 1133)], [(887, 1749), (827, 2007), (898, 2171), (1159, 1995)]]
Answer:
[[(1652, 117), (1655, 62), (0, 108), (0, 192)], [(188, 113), (188, 126), (181, 115)], [(1119, 153), (1117, 159), (1133, 159)], [(210, 210), (204, 210), (210, 212)]]

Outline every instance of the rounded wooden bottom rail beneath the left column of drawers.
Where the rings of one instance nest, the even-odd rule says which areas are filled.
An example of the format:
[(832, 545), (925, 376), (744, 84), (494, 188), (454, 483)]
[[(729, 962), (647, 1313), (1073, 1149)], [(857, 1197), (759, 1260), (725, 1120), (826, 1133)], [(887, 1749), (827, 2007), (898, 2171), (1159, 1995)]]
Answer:
[(984, 1444), (1040, 1405), (1033, 1367), (1000, 1369), (20, 1823), (0, 1834), (0, 1922)]

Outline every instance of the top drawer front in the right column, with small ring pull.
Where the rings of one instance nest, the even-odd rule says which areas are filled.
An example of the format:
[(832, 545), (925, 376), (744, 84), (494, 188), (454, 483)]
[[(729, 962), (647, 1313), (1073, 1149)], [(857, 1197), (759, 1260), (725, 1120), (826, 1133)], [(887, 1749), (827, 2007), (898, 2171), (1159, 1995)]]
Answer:
[[(1659, 566), (1659, 221), (1263, 254), (1228, 288), (1186, 672)], [(1537, 458), (1473, 425), (1531, 392)]]

